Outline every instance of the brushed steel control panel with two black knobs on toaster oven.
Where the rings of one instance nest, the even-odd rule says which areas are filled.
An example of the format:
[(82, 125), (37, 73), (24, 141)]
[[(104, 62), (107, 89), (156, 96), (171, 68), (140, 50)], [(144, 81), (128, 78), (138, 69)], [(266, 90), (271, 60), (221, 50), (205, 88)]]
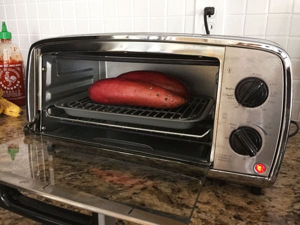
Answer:
[[(213, 169), (267, 176), (282, 116), (279, 56), (226, 47), (219, 99)], [(263, 172), (255, 169), (257, 164), (265, 167)]]

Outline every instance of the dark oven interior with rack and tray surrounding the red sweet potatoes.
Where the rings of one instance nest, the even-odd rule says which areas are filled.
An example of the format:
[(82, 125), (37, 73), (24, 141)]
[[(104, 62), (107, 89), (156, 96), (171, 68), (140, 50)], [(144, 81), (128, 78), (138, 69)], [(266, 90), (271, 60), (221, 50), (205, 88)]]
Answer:
[[(41, 57), (41, 133), (137, 155), (209, 162), (217, 58), (98, 51), (51, 52)], [(191, 99), (175, 109), (155, 109), (99, 105), (88, 98), (87, 89), (94, 81), (134, 70), (159, 71), (182, 80)]]

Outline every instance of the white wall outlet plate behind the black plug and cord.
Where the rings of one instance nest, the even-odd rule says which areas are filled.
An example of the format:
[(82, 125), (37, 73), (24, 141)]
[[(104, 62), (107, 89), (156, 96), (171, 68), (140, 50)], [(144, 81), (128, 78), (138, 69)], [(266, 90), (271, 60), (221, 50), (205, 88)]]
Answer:
[(214, 14), (207, 16), (207, 24), (210, 34), (223, 34), (224, 21), (224, 2), (223, 0), (196, 0), (194, 33), (206, 34), (204, 27), (204, 8), (214, 7)]

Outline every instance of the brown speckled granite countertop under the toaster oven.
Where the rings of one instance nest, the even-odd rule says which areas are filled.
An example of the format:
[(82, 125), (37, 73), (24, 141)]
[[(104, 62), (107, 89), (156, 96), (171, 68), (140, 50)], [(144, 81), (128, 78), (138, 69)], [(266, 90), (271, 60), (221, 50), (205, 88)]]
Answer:
[[(30, 142), (38, 146), (39, 142), (32, 142), (23, 135), (22, 126), (26, 121), (25, 115), (18, 118), (0, 115), (0, 170), (14, 169), (16, 174), (23, 176), (36, 175), (39, 180), (55, 183), (56, 185), (67, 185), (77, 188), (80, 191), (89, 192), (102, 196), (109, 195), (118, 201), (138, 203), (151, 202), (153, 209), (162, 208), (165, 212), (177, 210), (177, 214), (185, 215), (190, 212), (192, 197), (197, 189), (191, 188), (190, 180), (175, 180), (174, 177), (161, 179), (163, 174), (155, 174), (150, 179), (145, 179), (145, 174), (139, 171), (126, 170), (125, 174), (112, 171), (105, 162), (88, 161), (89, 168), (82, 168), (83, 159), (71, 158), (72, 163), (63, 166), (66, 172), (59, 173), (57, 166), (63, 164), (69, 158), (65, 152), (53, 154), (43, 149), (36, 151), (36, 157), (43, 155), (46, 160), (42, 161), (46, 169), (40, 169), (39, 163), (27, 165), (24, 160), (24, 143)], [(49, 142), (47, 142), (48, 144)], [(5, 146), (4, 146), (5, 145)], [(33, 146), (33, 145), (32, 145)], [(7, 154), (7, 149), (9, 154)], [(18, 149), (18, 150), (16, 150)], [(37, 149), (37, 148), (36, 148)], [(289, 138), (282, 166), (275, 184), (272, 187), (264, 188), (262, 194), (257, 196), (249, 192), (246, 186), (225, 183), (223, 181), (207, 178), (201, 193), (197, 199), (195, 209), (192, 213), (190, 224), (297, 224), (300, 221), (300, 134)], [(44, 155), (46, 153), (46, 156)], [(65, 154), (64, 154), (65, 153)], [(22, 155), (22, 157), (20, 157)], [(33, 157), (31, 155), (31, 157)], [(61, 160), (62, 159), (62, 160)], [(61, 160), (61, 161), (60, 161)], [(39, 160), (40, 161), (40, 160)], [(20, 166), (20, 163), (22, 166)], [(76, 164), (77, 163), (77, 164)], [(16, 166), (17, 165), (17, 166)], [(33, 166), (32, 166), (33, 165)], [(76, 165), (74, 169), (74, 165)], [(2, 166), (2, 167), (1, 167)], [(31, 172), (26, 168), (31, 166)], [(55, 167), (56, 166), (56, 167)], [(35, 168), (39, 168), (35, 171)], [(53, 178), (51, 169), (56, 168), (57, 172)], [(87, 172), (88, 171), (88, 172)], [(100, 177), (107, 183), (107, 189), (90, 188), (98, 187), (98, 182), (88, 178), (90, 176)], [(80, 184), (78, 184), (80, 180)], [(126, 182), (124, 183), (124, 180)], [(85, 185), (83, 185), (85, 183)], [(93, 189), (93, 190), (91, 190)], [(140, 191), (140, 190), (146, 190)], [(174, 199), (174, 194), (178, 199)], [(29, 194), (30, 195), (30, 194)], [(135, 196), (135, 198), (132, 196)], [(89, 214), (89, 211), (74, 208), (72, 206), (53, 202), (49, 199), (36, 197), (40, 200), (56, 204), (62, 207), (71, 208), (81, 213)], [(139, 202), (140, 201), (140, 202)], [(175, 207), (171, 207), (175, 205)], [(158, 208), (157, 208), (158, 209)], [(132, 224), (126, 221), (117, 220), (118, 224)], [(0, 209), (0, 224), (39, 224), (30, 219), (19, 216), (15, 213)]]

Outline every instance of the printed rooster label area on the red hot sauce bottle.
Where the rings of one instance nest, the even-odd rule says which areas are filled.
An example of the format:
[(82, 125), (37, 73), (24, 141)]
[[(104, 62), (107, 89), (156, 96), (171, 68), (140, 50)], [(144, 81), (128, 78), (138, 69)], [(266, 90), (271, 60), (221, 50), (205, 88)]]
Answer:
[(25, 104), (23, 71), (22, 61), (0, 64), (0, 87), (3, 97), (17, 105)]

